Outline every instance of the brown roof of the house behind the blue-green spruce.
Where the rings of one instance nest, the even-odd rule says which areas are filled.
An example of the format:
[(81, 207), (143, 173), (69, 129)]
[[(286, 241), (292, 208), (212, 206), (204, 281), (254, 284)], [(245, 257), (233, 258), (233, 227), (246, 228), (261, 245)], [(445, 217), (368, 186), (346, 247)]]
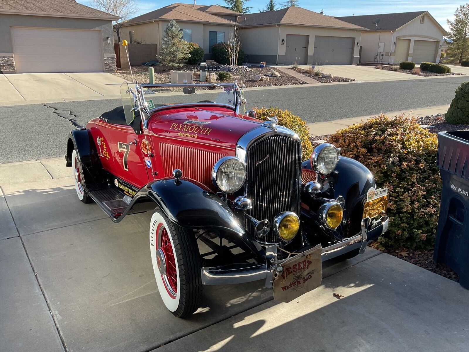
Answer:
[(136, 16), (130, 19), (126, 25), (147, 22), (152, 20), (175, 20), (175, 21), (194, 21), (202, 23), (218, 23), (233, 25), (234, 22), (228, 21), (219, 16), (199, 11), (196, 8), (180, 5), (178, 3), (159, 8), (144, 15)]

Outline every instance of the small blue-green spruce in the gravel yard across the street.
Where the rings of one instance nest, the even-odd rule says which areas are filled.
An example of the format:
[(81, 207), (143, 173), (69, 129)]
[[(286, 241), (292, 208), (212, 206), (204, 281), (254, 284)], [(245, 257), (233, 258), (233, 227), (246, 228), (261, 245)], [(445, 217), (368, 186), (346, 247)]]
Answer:
[(176, 21), (169, 21), (165, 28), (163, 41), (159, 47), (159, 61), (173, 69), (184, 66), (189, 58), (189, 46), (182, 39), (182, 29)]

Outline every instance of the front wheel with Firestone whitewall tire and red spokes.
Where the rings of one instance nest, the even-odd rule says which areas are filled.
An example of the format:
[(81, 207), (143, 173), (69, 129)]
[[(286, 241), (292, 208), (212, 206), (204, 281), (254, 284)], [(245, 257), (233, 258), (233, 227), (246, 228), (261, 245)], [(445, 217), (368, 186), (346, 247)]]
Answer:
[(194, 313), (202, 299), (200, 254), (194, 234), (156, 208), (150, 222), (150, 252), (166, 308), (179, 318)]

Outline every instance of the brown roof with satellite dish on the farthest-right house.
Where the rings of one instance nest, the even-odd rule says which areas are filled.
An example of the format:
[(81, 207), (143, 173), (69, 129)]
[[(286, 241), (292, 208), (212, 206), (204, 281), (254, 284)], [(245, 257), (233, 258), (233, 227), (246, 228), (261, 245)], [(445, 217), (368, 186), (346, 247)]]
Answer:
[[(363, 16), (345, 16), (336, 17), (339, 20), (356, 24), (357, 26), (368, 28), (371, 31), (395, 31), (404, 24), (412, 21), (420, 15), (423, 15), (427, 11), (416, 11), (416, 12), (401, 12), (397, 14), (378, 14), (378, 15), (363, 15)], [(374, 21), (378, 20), (378, 26)]]

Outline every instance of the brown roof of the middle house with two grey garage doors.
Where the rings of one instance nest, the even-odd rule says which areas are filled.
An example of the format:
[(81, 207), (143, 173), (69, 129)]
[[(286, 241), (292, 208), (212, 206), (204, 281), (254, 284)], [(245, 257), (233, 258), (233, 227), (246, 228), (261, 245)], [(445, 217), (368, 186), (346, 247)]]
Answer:
[(335, 17), (321, 15), (317, 12), (299, 7), (241, 15), (238, 18), (238, 23), (241, 27), (255, 27), (267, 24), (299, 24), (303, 26), (364, 30), (363, 27), (355, 24), (340, 21)]

